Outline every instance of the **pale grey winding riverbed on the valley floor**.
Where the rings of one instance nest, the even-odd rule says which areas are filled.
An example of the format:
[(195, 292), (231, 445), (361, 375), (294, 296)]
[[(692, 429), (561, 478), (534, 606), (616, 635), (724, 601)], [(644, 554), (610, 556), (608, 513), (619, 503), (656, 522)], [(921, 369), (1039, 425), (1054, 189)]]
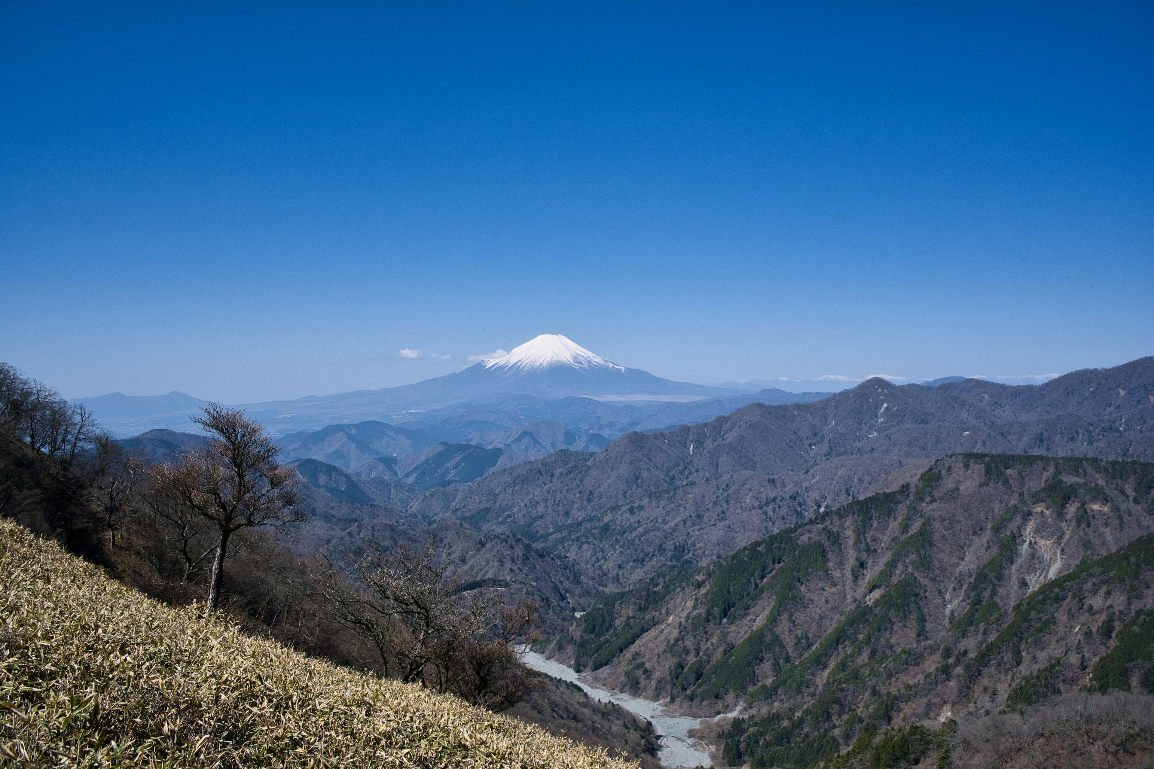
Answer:
[[(547, 659), (533, 651), (523, 650), (520, 658), (525, 665), (535, 671), (576, 684), (598, 702), (615, 702), (629, 713), (649, 719), (653, 724), (653, 729), (658, 734), (658, 741), (661, 745), (658, 760), (662, 767), (681, 769), (683, 767), (713, 766), (713, 762), (710, 760), (709, 747), (700, 740), (690, 738), (689, 730), (713, 723), (722, 716), (714, 716), (713, 718), (687, 718), (684, 716), (669, 715), (661, 707), (660, 702), (610, 692), (599, 686), (591, 686), (580, 680), (572, 668), (553, 659)], [(734, 710), (733, 713), (722, 715), (735, 716), (737, 711)]]

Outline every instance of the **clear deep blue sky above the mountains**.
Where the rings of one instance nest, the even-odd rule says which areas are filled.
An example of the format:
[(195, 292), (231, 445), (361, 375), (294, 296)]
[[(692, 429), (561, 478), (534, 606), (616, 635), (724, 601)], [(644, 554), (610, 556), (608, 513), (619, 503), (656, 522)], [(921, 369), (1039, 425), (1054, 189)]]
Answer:
[(1149, 2), (237, 5), (0, 7), (0, 360), (243, 402), (538, 333), (695, 382), (1154, 353)]

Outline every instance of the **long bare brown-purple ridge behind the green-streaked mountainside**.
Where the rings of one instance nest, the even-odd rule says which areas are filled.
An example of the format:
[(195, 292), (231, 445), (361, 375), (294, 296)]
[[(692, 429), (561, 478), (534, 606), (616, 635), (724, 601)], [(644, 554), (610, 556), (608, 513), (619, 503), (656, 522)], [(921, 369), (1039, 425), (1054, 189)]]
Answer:
[(704, 565), (966, 451), (1154, 459), (1154, 359), (1040, 386), (870, 379), (810, 404), (752, 404), (595, 454), (557, 452), (418, 499), (429, 518), (511, 530), (620, 585)]

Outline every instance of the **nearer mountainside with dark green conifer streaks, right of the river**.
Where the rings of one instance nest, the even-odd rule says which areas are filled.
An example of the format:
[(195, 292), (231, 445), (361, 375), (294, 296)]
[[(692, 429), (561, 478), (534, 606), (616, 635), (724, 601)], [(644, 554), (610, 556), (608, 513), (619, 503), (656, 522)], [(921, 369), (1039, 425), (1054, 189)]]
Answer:
[[(1154, 692), (1154, 463), (957, 454), (602, 596), (554, 653), (712, 713), (729, 766), (1076, 692)], [(867, 740), (868, 742), (869, 740)]]

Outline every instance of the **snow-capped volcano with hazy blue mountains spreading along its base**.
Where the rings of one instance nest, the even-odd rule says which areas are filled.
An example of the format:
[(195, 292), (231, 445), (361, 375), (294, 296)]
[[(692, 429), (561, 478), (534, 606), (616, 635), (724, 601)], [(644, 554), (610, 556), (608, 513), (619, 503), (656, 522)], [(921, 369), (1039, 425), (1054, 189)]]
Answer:
[[(582, 448), (595, 448), (599, 442), (607, 443), (629, 430), (699, 422), (755, 401), (804, 402), (825, 394), (743, 392), (673, 382), (617, 365), (565, 337), (542, 334), (500, 357), (411, 385), (243, 407), (273, 436), (368, 421), (424, 431), (421, 437), (411, 436), (413, 446), (420, 448), (410, 447), (412, 440), (405, 438), (382, 450), (402, 455), (440, 442), (487, 447), (517, 443), (516, 436), (504, 433), (530, 422), (555, 422), (577, 431), (582, 436), (578, 443), (589, 437)], [(74, 402), (90, 408), (114, 435), (127, 437), (156, 429), (188, 430), (188, 417), (207, 401), (171, 392), (144, 397), (111, 393)], [(542, 429), (531, 431), (537, 440)], [(529, 451), (532, 445), (524, 443), (514, 451), (534, 453)]]

